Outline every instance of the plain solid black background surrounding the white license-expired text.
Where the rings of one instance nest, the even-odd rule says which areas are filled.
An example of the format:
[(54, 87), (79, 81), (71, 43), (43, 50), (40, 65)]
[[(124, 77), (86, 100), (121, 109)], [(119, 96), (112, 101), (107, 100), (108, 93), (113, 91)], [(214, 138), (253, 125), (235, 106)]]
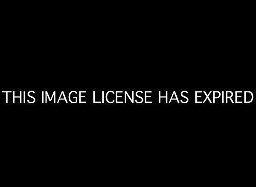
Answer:
[[(3, 13), (1, 91), (152, 90), (154, 104), (2, 102), (5, 176), (131, 184), (250, 178), (255, 101), (196, 105), (193, 96), (255, 94), (247, 7), (42, 7)], [(187, 105), (157, 104), (157, 91), (183, 90)]]

